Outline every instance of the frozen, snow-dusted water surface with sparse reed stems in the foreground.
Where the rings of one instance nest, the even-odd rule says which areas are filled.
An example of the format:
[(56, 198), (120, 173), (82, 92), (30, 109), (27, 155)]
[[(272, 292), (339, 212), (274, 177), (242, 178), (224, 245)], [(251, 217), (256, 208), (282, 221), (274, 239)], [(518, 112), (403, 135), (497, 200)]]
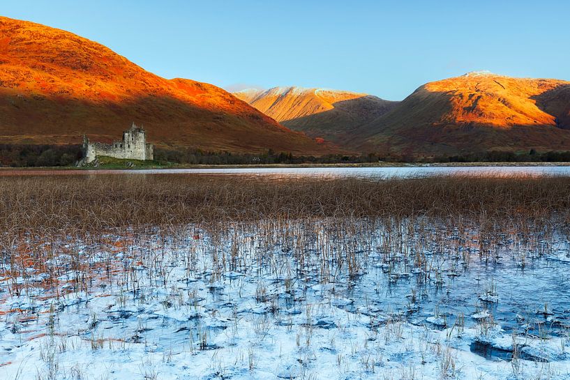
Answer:
[(0, 376), (570, 378), (566, 238), (351, 223), (61, 243), (17, 278), (3, 263)]

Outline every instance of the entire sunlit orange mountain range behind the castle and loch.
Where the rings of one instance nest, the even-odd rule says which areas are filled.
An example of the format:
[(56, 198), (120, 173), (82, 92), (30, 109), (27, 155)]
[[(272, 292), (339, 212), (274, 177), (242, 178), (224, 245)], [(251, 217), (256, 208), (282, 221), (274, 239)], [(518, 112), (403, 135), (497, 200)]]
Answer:
[(570, 82), (483, 71), (423, 84), (400, 102), (297, 86), (232, 95), (154, 75), (68, 31), (0, 17), (1, 142), (77, 144), (84, 133), (110, 142), (133, 121), (156, 144), (210, 151), (570, 150)]

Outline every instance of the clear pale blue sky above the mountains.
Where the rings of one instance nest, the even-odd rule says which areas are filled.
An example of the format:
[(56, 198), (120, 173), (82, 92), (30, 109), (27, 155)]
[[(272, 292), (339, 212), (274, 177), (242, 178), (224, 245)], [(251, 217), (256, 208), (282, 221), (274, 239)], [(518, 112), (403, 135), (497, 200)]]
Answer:
[(570, 79), (568, 0), (2, 0), (163, 77), (399, 100), (474, 70)]

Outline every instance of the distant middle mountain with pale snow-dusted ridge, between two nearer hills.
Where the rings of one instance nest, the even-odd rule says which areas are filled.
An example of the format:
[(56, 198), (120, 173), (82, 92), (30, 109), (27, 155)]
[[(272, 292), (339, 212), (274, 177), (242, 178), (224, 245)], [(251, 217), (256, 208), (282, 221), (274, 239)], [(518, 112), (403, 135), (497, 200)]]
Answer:
[(359, 126), (374, 121), (397, 105), (397, 102), (364, 93), (301, 87), (247, 89), (234, 95), (287, 128), (338, 144), (352, 137)]

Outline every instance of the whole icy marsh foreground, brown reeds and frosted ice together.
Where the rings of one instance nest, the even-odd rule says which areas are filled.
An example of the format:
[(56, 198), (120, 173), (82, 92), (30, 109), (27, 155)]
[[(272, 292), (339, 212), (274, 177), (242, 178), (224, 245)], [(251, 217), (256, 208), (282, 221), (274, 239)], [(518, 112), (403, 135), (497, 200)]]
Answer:
[(570, 178), (0, 181), (2, 378), (570, 379)]

